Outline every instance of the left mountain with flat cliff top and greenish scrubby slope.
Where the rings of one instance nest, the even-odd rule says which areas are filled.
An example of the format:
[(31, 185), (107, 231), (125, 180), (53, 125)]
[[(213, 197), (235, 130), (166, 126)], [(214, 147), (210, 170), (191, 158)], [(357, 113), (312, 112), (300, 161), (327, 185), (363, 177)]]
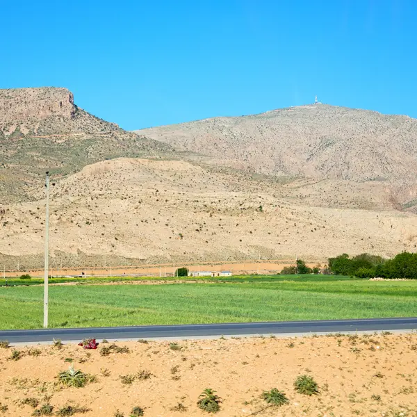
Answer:
[(79, 108), (66, 88), (0, 90), (3, 204), (31, 199), (31, 190), (42, 188), (47, 170), (60, 179), (108, 158), (172, 154), (169, 145), (124, 131)]

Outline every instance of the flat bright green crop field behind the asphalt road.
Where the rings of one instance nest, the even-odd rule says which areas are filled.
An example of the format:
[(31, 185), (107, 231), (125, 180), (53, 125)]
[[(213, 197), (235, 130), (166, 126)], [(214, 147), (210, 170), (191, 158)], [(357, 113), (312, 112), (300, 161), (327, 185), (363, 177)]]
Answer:
[[(0, 328), (42, 327), (42, 297), (42, 286), (0, 287)], [(50, 327), (407, 316), (417, 316), (417, 281), (292, 275), (49, 288)]]

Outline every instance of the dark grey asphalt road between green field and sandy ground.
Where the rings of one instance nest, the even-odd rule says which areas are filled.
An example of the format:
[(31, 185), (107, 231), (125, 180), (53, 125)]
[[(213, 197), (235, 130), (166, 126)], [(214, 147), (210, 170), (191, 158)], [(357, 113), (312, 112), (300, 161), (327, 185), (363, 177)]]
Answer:
[(316, 320), (293, 322), (218, 323), (211, 325), (88, 327), (77, 329), (3, 330), (0, 341), (10, 343), (81, 341), (84, 338), (212, 338), (215, 336), (295, 335), (346, 332), (411, 331), (417, 329), (417, 317), (371, 318), (360, 320)]

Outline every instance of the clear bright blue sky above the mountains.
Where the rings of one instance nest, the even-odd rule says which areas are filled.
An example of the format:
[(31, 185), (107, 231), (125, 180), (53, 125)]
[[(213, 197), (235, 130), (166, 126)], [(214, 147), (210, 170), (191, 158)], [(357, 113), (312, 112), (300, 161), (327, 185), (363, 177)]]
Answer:
[(325, 103), (417, 117), (416, 0), (0, 0), (0, 88), (124, 129)]

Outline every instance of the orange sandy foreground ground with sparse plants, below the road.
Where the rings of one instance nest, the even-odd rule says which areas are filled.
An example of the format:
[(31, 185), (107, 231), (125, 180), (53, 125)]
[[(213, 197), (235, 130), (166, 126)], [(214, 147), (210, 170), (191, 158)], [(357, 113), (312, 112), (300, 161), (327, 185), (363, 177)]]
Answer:
[[(304, 338), (231, 338), (116, 343), (129, 352), (101, 354), (77, 345), (0, 348), (0, 416), (31, 416), (26, 399), (87, 407), (84, 416), (129, 417), (140, 406), (145, 416), (208, 416), (197, 407), (206, 388), (222, 398), (218, 416), (417, 416), (417, 334), (375, 334)], [(20, 359), (11, 359), (13, 350)], [(56, 378), (74, 368), (95, 375), (83, 388), (61, 386)], [(123, 384), (123, 375), (152, 375)], [(319, 395), (294, 389), (310, 375)], [(268, 407), (265, 390), (286, 393), (289, 404)], [(33, 402), (33, 400), (26, 402)], [(174, 410), (182, 404), (185, 409)], [(180, 406), (180, 408), (183, 408)], [(2, 411), (3, 410), (3, 411)], [(82, 414), (76, 414), (82, 415)]]

